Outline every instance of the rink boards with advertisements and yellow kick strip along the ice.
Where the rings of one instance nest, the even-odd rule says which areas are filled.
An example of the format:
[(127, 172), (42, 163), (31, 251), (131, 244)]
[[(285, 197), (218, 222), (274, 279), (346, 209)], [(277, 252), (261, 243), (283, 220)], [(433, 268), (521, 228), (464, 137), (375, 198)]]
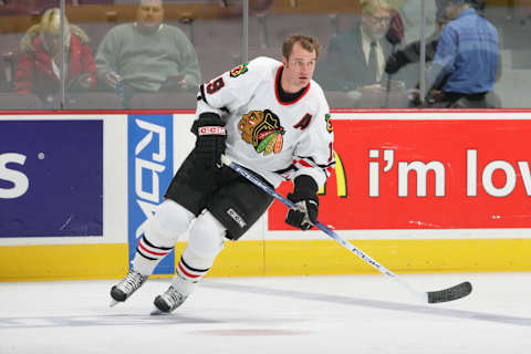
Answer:
[[(323, 223), (396, 272), (531, 270), (531, 111), (333, 118), (337, 166), (321, 190)], [(123, 275), (194, 146), (192, 119), (180, 111), (0, 115), (0, 281)], [(374, 272), (324, 233), (290, 229), (284, 215), (275, 202), (242, 240), (227, 241), (209, 275)], [(173, 274), (186, 239), (154, 277)]]

